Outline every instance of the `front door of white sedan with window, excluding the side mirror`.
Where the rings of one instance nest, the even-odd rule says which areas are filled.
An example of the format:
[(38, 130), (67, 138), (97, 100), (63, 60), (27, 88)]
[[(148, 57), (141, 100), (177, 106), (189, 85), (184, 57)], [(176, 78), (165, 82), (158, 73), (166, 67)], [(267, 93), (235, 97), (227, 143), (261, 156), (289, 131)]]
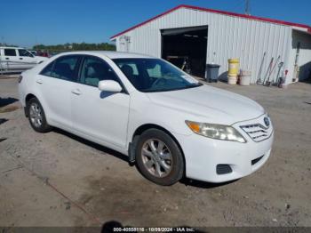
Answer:
[(101, 80), (115, 80), (121, 84), (105, 60), (84, 56), (80, 78), (71, 95), (73, 128), (104, 145), (124, 149), (130, 95), (126, 92), (100, 92), (98, 84)]

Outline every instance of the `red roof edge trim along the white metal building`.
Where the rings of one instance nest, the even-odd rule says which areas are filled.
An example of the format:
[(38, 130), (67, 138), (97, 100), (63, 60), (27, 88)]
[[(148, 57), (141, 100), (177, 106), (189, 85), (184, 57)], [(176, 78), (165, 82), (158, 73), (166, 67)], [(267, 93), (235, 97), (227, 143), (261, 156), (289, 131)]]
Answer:
[(179, 10), (180, 8), (186, 8), (186, 9), (190, 9), (190, 10), (196, 10), (196, 11), (202, 11), (202, 12), (211, 12), (211, 13), (219, 13), (219, 14), (224, 14), (224, 15), (228, 15), (228, 16), (235, 16), (235, 17), (240, 17), (243, 19), (248, 19), (248, 20), (259, 20), (259, 21), (265, 21), (265, 22), (270, 22), (270, 23), (275, 23), (275, 24), (281, 24), (281, 25), (285, 25), (285, 26), (291, 26), (291, 27), (298, 27), (298, 28), (305, 28), (307, 29), (307, 32), (311, 33), (311, 27), (308, 25), (304, 25), (304, 24), (299, 24), (299, 23), (294, 23), (294, 22), (288, 22), (288, 21), (283, 21), (283, 20), (273, 20), (273, 19), (268, 19), (268, 18), (263, 18), (263, 17), (257, 17), (257, 16), (251, 16), (251, 15), (246, 15), (246, 14), (242, 14), (242, 13), (235, 13), (235, 12), (224, 12), (224, 11), (219, 11), (219, 10), (213, 10), (213, 9), (208, 9), (208, 8), (203, 8), (203, 7), (198, 7), (198, 6), (194, 6), (194, 5), (187, 5), (187, 4), (180, 4), (174, 8), (172, 8), (169, 11), (163, 12), (161, 14), (156, 15), (156, 17), (153, 17), (149, 20), (143, 21), (138, 25), (133, 26), (132, 28), (128, 28), (118, 34), (116, 34), (115, 36), (111, 36), (110, 39), (114, 39), (116, 36), (121, 36), (126, 32), (129, 32), (135, 28), (139, 28), (145, 24), (147, 24), (150, 21), (156, 20), (168, 13), (171, 12), (175, 12), (177, 10)]

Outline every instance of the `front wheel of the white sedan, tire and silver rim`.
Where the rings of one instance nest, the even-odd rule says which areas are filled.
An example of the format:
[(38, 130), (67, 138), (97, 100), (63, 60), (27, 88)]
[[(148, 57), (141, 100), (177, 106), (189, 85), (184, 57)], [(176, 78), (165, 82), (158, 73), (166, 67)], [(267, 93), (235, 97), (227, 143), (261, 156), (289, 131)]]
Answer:
[(149, 181), (163, 186), (178, 182), (184, 174), (184, 158), (167, 133), (149, 129), (140, 135), (135, 148), (136, 165)]

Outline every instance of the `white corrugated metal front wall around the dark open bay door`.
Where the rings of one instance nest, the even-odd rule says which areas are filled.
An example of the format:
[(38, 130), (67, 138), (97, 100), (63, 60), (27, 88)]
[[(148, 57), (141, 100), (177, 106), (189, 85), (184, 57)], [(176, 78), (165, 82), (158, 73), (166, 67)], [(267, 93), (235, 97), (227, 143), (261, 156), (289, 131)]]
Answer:
[[(161, 57), (161, 29), (208, 26), (207, 63), (221, 65), (220, 75), (226, 76), (227, 59), (239, 58), (241, 68), (251, 70), (256, 82), (260, 62), (267, 52), (263, 73), (272, 57), (280, 55), (288, 65), (291, 27), (274, 23), (243, 19), (219, 13), (180, 8), (124, 34), (131, 36), (128, 52), (139, 52)], [(122, 51), (116, 38), (117, 50)], [(275, 73), (272, 76), (276, 76)]]

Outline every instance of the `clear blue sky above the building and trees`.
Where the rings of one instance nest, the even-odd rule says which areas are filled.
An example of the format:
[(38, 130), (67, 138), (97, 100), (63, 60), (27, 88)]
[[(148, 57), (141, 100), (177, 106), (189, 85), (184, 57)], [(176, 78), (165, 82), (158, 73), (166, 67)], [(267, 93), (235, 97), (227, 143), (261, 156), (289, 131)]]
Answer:
[[(250, 0), (251, 15), (311, 26), (311, 0)], [(244, 0), (1, 0), (0, 42), (103, 43), (109, 37), (179, 4), (244, 11)]]

